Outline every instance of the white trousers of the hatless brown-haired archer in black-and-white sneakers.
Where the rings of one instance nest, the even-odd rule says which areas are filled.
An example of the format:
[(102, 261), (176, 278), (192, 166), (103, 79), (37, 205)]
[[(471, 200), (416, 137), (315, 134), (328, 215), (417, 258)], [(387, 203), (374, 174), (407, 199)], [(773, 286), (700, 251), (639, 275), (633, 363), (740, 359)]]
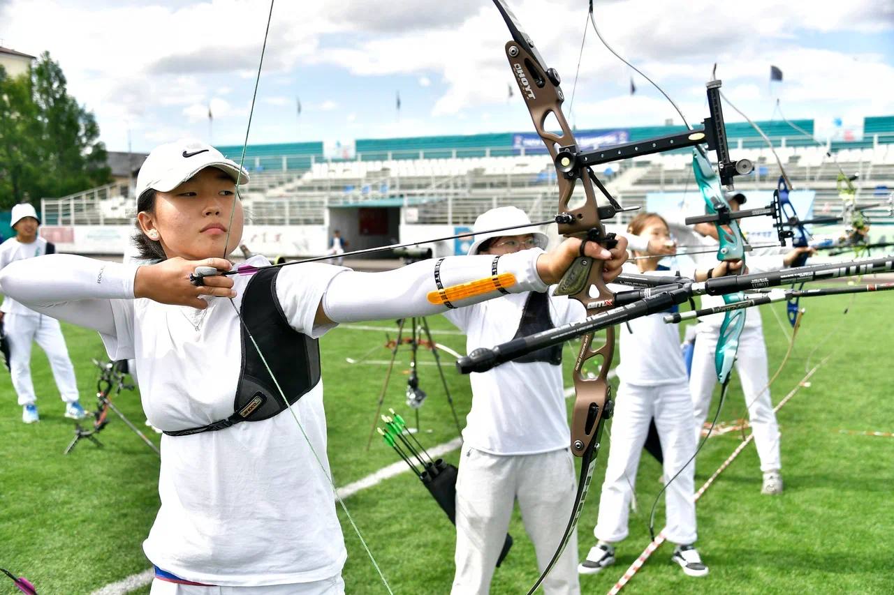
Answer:
[[(621, 383), (611, 421), (609, 460), (605, 468), (596, 539), (621, 541), (628, 536), (630, 499), (637, 481), (649, 422), (654, 417), (664, 455), (664, 481), (683, 469), (664, 492), (668, 541), (696, 541), (695, 461), (692, 398), (685, 383), (635, 386)], [(688, 464), (687, 464), (688, 462)], [(686, 465), (686, 468), (683, 468)]]

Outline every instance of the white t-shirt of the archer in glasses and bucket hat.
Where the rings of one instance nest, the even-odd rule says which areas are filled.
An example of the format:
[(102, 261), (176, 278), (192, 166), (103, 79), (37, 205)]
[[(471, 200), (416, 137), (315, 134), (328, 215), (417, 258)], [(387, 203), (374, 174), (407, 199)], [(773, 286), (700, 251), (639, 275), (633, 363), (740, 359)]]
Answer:
[[(552, 291), (551, 291), (552, 292)], [(466, 333), (466, 349), (491, 348), (519, 330), (528, 293), (510, 294), (444, 313)], [(564, 296), (550, 297), (552, 324), (586, 317), (584, 306)], [(472, 409), (463, 442), (492, 455), (531, 455), (569, 448), (562, 366), (547, 362), (507, 362), (469, 374)]]

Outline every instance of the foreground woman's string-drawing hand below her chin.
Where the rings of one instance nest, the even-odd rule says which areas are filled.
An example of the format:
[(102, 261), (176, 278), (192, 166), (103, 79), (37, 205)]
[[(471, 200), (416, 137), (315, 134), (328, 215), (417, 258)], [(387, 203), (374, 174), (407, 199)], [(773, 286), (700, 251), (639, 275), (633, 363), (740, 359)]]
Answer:
[(208, 266), (217, 271), (229, 271), (230, 261), (224, 258), (205, 258), (204, 260), (186, 260), (180, 256), (168, 258), (158, 264), (147, 264), (137, 269), (133, 281), (135, 298), (149, 298), (161, 304), (174, 306), (192, 306), (199, 310), (207, 308), (208, 303), (199, 296), (215, 296), (217, 298), (235, 298), (232, 289), (232, 278), (221, 275), (203, 277), (203, 285), (196, 286), (190, 282), (190, 275), (200, 266)]

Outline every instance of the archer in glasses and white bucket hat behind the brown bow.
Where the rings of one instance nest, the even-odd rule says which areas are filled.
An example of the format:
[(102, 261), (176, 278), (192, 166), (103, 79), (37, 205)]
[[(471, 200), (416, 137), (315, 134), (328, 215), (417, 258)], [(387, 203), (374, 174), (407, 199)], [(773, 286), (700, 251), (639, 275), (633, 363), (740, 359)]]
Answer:
[[(512, 230), (512, 235), (482, 233), (529, 223), (527, 214), (514, 206), (481, 214), (468, 254), (493, 255), (496, 263), (502, 255), (545, 248), (547, 237), (534, 227)], [(466, 333), (468, 353), (586, 317), (580, 302), (552, 296), (552, 289), (506, 294), (444, 316)], [(577, 488), (561, 356), (559, 345), (469, 376), (472, 410), (462, 432), (456, 486), (454, 595), (490, 590), (516, 500), (541, 572), (559, 546)], [(544, 581), (544, 593), (580, 592), (577, 551), (573, 535)]]

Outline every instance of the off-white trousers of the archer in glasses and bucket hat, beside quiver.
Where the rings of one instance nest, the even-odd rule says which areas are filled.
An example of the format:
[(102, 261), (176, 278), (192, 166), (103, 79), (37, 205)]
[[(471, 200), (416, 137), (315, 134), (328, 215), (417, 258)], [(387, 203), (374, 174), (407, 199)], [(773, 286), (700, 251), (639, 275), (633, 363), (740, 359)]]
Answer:
[[(490, 591), (516, 499), (525, 531), (534, 542), (538, 572), (543, 572), (559, 547), (576, 492), (569, 450), (496, 456), (463, 447), (456, 482), (456, 575), (451, 593), (486, 595)], [(543, 591), (580, 593), (577, 532), (552, 567)]]

